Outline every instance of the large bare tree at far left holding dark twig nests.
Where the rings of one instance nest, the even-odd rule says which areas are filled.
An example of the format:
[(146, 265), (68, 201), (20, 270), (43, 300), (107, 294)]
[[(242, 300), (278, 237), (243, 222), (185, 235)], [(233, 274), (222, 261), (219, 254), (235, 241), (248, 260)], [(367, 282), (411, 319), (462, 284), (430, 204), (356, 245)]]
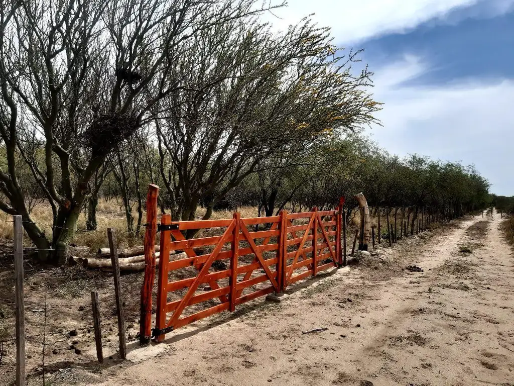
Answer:
[[(0, 209), (23, 216), (42, 260), (62, 264), (107, 155), (183, 87), (172, 71), (188, 41), (259, 9), (250, 0), (1, 1)], [(17, 157), (52, 207), (51, 239), (26, 208)]]

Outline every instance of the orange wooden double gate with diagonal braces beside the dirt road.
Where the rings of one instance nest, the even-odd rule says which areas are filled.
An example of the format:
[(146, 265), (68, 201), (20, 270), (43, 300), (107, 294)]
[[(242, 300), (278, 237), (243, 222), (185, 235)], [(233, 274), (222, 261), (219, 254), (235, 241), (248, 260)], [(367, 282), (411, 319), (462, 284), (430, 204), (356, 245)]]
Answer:
[[(160, 264), (153, 335), (176, 328), (342, 266), (338, 210), (228, 220), (171, 221), (159, 225)], [(293, 222), (303, 222), (293, 224)], [(264, 230), (255, 230), (258, 226)], [(185, 231), (197, 231), (186, 239)], [(173, 238), (173, 240), (172, 240)], [(308, 244), (307, 244), (308, 242)], [(310, 245), (310, 246), (307, 246)], [(183, 251), (171, 255), (170, 251)], [(170, 274), (174, 279), (170, 281)]]

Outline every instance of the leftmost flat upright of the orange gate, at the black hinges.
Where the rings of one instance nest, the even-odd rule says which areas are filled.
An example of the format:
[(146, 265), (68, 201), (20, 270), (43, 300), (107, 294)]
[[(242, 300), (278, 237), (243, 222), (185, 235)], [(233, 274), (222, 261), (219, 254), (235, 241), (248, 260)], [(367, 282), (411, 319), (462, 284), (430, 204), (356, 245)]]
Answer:
[[(161, 224), (168, 225), (171, 223), (170, 215), (161, 216)], [(162, 256), (168, 256), (170, 254), (170, 242), (171, 235), (170, 231), (162, 231), (160, 235), (160, 251)], [(166, 313), (169, 312), (166, 309), (168, 302), (168, 265), (169, 260), (167, 258), (161, 258), (159, 264), (159, 277), (157, 280), (157, 305), (155, 314), (155, 328), (162, 329), (166, 326)], [(164, 340), (164, 334), (155, 337), (156, 342), (162, 342)]]

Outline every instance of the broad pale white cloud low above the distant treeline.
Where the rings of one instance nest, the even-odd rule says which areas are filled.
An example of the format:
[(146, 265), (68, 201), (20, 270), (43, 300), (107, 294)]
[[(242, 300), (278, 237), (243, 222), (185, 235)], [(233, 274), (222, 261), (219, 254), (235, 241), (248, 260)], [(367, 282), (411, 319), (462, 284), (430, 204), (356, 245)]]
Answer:
[(444, 86), (402, 86), (429, 71), (419, 58), (376, 72), (377, 114), (383, 127), (372, 138), (392, 153), (420, 153), (434, 159), (475, 164), (498, 194), (514, 194), (510, 180), (514, 141), (514, 81), (465, 81)]

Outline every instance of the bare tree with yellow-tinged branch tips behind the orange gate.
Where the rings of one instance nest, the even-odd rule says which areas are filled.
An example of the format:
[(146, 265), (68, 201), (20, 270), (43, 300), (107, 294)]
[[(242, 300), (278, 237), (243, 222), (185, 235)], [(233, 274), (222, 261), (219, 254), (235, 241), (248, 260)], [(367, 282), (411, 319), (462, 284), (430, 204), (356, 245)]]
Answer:
[(209, 218), (263, 160), (367, 124), (379, 109), (365, 90), (370, 74), (354, 76), (355, 56), (340, 57), (309, 21), (278, 36), (255, 20), (203, 32), (173, 68), (184, 86), (154, 114), (175, 218), (194, 219), (200, 203)]

